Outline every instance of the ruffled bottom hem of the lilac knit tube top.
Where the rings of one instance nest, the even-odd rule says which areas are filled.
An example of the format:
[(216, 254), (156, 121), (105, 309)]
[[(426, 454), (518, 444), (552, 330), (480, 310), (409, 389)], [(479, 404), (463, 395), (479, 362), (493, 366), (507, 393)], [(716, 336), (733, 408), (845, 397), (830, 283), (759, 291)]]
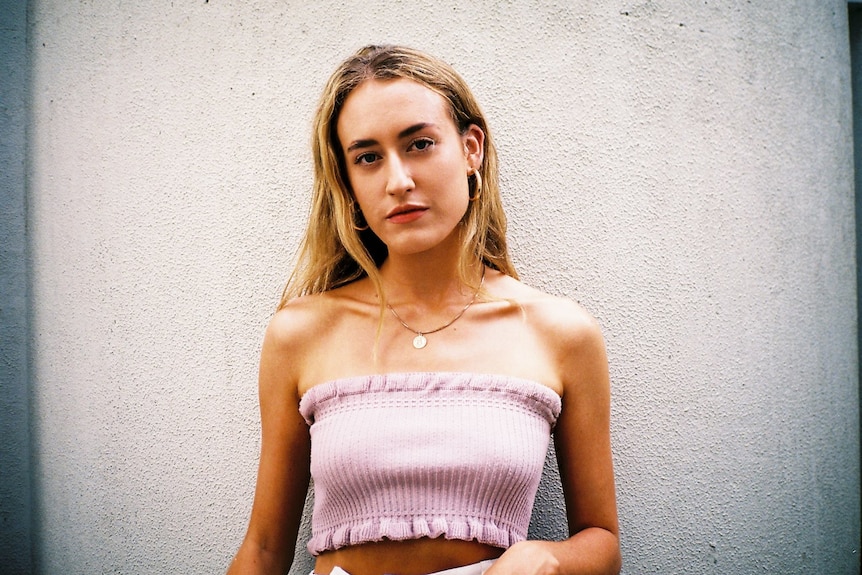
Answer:
[(372, 541), (406, 541), (437, 537), (462, 541), (478, 541), (492, 547), (507, 549), (526, 539), (526, 533), (500, 527), (479, 519), (447, 519), (435, 517), (430, 521), (424, 517), (410, 519), (382, 518), (357, 524), (346, 524), (314, 533), (308, 542), (308, 552), (318, 555), (341, 547), (369, 543)]

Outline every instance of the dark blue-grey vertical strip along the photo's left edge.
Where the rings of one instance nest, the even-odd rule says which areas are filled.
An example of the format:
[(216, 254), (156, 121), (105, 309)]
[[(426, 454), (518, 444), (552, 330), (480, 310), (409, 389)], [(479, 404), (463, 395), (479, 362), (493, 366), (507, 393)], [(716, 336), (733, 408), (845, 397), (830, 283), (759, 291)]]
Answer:
[(26, 124), (27, 2), (0, 0), (0, 566), (33, 572)]

